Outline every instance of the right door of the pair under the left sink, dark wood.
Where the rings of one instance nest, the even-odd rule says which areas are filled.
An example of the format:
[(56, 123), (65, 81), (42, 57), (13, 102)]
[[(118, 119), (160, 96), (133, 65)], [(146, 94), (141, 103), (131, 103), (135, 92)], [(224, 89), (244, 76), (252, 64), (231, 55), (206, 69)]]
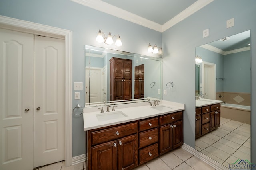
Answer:
[(118, 140), (118, 170), (130, 170), (138, 165), (138, 137), (132, 135)]

